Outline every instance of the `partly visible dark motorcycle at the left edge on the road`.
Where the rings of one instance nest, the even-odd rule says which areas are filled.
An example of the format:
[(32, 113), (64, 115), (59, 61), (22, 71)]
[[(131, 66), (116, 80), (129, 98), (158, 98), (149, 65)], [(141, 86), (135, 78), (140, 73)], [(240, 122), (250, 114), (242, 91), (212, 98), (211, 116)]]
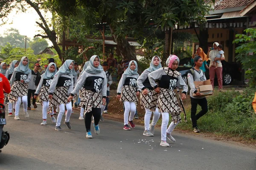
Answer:
[(5, 119), (5, 106), (0, 104), (0, 152), (2, 152), (2, 148), (8, 144), (10, 135), (8, 132), (3, 131), (3, 126), (6, 125)]

